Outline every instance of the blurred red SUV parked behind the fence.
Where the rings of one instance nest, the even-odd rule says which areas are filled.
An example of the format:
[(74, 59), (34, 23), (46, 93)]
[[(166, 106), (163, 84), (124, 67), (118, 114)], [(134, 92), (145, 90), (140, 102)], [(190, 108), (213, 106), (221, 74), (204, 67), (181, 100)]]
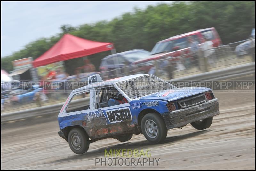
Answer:
[[(178, 57), (184, 54), (188, 54), (185, 55), (185, 58), (190, 58), (190, 47), (188, 44), (189, 36), (192, 36), (194, 40), (197, 41), (199, 44), (203, 43), (201, 38), (205, 36), (213, 42), (214, 47), (222, 45), (219, 34), (217, 33), (214, 27), (196, 30), (185, 34), (176, 35), (157, 42), (154, 48), (152, 49), (150, 56), (148, 56), (147, 58), (134, 61), (133, 64), (138, 66), (138, 72), (148, 73), (150, 68), (154, 66), (153, 62), (155, 60), (159, 60), (164, 57)], [(171, 58), (170, 60), (177, 61), (179, 59)]]

